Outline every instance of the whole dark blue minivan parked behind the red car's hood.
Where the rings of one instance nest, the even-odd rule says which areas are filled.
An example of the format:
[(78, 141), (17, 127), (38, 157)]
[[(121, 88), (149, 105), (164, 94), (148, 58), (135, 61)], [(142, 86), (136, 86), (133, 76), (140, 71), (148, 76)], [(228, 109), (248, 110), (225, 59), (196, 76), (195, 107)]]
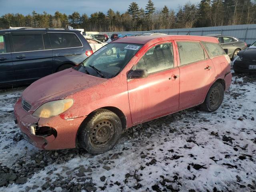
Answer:
[(31, 84), (91, 54), (92, 48), (77, 30), (0, 30), (0, 87)]

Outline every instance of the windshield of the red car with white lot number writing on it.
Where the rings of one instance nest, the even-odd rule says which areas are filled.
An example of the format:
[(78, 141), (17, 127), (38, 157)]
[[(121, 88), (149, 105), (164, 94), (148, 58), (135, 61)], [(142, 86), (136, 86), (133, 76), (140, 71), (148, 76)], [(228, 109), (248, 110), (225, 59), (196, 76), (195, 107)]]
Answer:
[(142, 44), (110, 43), (100, 48), (75, 69), (101, 78), (116, 76)]

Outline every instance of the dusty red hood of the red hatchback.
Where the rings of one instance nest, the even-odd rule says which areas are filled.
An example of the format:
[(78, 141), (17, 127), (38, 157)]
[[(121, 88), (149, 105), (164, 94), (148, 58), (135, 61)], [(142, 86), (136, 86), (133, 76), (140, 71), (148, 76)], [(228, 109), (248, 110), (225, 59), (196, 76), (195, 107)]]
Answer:
[(31, 110), (34, 111), (46, 102), (66, 98), (106, 80), (70, 68), (32, 83), (24, 90), (22, 98), (31, 104)]

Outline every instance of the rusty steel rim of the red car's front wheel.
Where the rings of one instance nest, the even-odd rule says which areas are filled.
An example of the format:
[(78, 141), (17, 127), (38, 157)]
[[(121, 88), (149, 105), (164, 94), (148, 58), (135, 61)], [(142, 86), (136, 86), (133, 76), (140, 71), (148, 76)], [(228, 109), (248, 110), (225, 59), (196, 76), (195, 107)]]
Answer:
[(104, 119), (96, 122), (90, 131), (90, 143), (95, 148), (105, 148), (114, 138), (114, 125)]

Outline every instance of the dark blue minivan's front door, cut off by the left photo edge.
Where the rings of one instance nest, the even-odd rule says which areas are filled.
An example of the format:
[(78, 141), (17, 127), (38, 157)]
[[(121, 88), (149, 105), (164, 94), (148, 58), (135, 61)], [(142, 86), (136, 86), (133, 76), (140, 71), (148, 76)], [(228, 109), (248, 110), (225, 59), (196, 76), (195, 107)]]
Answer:
[(8, 33), (0, 33), (0, 86), (15, 82)]

